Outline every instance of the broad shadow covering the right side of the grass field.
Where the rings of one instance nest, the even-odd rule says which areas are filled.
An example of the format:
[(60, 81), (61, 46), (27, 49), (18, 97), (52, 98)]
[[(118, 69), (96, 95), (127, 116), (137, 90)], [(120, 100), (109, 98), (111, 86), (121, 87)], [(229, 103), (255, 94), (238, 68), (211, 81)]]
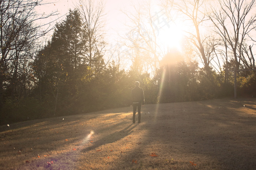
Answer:
[[(174, 158), (180, 166), (187, 162), (188, 169), (189, 161), (195, 161), (199, 169), (255, 169), (255, 106), (254, 99), (159, 104), (155, 116), (147, 114), (141, 127), (148, 133), (140, 147), (159, 155), (154, 164), (145, 166), (177, 168), (165, 161)], [(145, 162), (137, 153), (134, 150), (129, 157)]]

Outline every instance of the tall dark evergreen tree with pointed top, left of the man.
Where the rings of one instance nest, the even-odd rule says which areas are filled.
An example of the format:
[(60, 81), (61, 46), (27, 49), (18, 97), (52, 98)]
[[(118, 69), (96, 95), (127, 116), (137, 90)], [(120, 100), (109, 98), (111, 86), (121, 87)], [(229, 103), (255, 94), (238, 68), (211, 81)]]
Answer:
[(84, 76), (86, 59), (83, 49), (87, 39), (82, 36), (81, 24), (80, 13), (76, 9), (69, 10), (66, 19), (56, 24), (52, 41), (38, 52), (34, 60), (40, 95), (54, 97), (54, 113), (60, 97), (67, 102), (76, 95), (77, 84)]

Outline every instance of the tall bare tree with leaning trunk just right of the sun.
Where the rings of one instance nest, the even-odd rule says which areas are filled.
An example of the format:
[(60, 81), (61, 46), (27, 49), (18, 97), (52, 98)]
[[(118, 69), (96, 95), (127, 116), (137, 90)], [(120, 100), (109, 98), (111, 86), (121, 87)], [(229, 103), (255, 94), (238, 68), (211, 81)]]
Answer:
[(201, 27), (208, 20), (205, 12), (205, 4), (206, 0), (162, 0), (162, 5), (166, 9), (165, 11), (172, 9), (180, 13), (180, 19), (188, 22), (189, 30), (185, 31), (187, 37), (198, 50), (205, 70), (210, 75), (210, 60), (215, 45), (213, 44), (213, 47), (209, 47), (209, 43), (207, 44), (209, 36), (202, 36)]

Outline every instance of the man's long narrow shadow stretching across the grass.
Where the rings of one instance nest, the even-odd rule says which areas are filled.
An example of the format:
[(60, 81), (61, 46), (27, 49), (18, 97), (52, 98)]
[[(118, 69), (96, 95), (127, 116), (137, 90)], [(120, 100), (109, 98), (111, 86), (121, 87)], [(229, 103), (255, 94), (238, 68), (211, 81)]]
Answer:
[(138, 126), (138, 124), (134, 124), (131, 123), (129, 124), (127, 127), (125, 127), (124, 129), (120, 130), (120, 131), (117, 131), (115, 133), (112, 133), (106, 137), (103, 137), (101, 139), (99, 139), (98, 141), (95, 141), (94, 142), (94, 145), (93, 146), (89, 146), (87, 148), (84, 148), (82, 150), (82, 152), (87, 152), (87, 151), (90, 151), (90, 150), (93, 150), (93, 149), (96, 149), (97, 147), (101, 146), (101, 145), (105, 145), (107, 143), (113, 143), (113, 142), (116, 142), (124, 137), (126, 137), (127, 135), (131, 134), (132, 133), (132, 130)]

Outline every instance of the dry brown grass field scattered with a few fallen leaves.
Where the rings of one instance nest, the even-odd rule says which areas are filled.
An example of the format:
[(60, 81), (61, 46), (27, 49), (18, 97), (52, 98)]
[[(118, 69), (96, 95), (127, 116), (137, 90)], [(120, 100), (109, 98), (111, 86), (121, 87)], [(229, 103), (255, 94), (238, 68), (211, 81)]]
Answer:
[(135, 124), (131, 110), (1, 126), (0, 169), (256, 169), (256, 99), (148, 104)]

